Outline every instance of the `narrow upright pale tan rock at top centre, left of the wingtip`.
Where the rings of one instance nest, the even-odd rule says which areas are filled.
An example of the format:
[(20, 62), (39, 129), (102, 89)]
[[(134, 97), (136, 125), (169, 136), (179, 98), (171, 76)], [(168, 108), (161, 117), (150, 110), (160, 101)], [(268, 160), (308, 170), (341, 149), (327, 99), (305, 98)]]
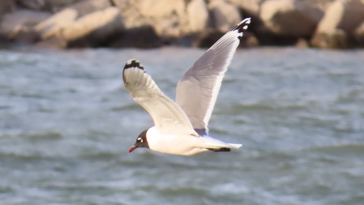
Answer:
[(206, 28), (209, 13), (203, 0), (192, 0), (187, 5), (187, 19), (190, 32), (203, 31)]

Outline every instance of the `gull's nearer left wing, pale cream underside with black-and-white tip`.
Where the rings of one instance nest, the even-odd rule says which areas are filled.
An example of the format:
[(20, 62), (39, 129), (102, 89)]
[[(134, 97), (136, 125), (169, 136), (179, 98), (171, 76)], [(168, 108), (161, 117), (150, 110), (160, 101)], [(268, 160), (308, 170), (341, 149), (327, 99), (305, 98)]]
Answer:
[(139, 61), (132, 59), (126, 63), (123, 80), (135, 102), (149, 112), (161, 134), (198, 136), (186, 113), (158, 88)]

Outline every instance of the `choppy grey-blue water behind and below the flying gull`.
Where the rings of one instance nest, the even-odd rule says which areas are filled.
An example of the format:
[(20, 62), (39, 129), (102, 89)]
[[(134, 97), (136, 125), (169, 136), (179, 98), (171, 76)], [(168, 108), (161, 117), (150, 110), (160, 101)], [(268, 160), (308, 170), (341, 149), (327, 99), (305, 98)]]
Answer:
[(203, 53), (0, 51), (1, 204), (364, 204), (364, 50), (238, 50), (209, 128), (243, 147), (128, 154), (153, 121), (124, 63), (174, 99)]

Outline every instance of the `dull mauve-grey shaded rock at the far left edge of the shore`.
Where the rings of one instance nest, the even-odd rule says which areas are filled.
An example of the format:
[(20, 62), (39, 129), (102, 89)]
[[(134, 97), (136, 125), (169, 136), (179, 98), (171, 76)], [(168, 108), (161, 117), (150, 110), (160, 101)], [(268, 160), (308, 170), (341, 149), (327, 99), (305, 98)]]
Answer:
[[(19, 9), (4, 15), (0, 34), (17, 42), (33, 43), (39, 39), (33, 26), (49, 18), (51, 13)], [(29, 34), (29, 36), (27, 36)]]

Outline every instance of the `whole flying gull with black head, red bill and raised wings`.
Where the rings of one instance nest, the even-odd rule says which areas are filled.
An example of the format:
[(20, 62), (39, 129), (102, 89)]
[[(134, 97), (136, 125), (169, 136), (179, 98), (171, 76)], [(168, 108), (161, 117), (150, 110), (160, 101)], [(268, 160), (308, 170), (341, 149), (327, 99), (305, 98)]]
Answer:
[(242, 20), (192, 65), (178, 82), (175, 102), (158, 88), (139, 61), (132, 59), (126, 63), (124, 85), (134, 101), (149, 112), (155, 125), (138, 136), (129, 153), (137, 147), (146, 147), (170, 154), (193, 155), (242, 146), (210, 137), (207, 124), (222, 78), (249, 23), (250, 18)]

